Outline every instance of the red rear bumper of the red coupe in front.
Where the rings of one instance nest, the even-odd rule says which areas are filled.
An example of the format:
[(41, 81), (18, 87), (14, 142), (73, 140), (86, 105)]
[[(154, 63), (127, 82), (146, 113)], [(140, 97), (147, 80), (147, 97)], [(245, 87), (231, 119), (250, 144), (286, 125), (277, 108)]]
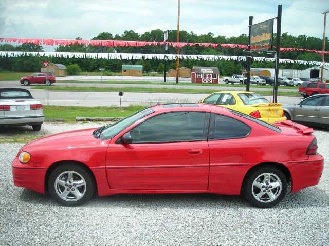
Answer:
[(310, 156), (305, 161), (289, 162), (287, 167), (291, 173), (291, 192), (297, 192), (319, 183), (324, 168), (324, 160), (322, 155), (317, 154)]

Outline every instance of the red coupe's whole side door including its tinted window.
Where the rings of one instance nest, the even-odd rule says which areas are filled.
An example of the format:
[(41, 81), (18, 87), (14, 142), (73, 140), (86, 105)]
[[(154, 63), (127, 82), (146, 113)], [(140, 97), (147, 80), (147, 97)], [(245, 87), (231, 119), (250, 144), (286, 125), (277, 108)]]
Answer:
[(210, 113), (169, 112), (129, 131), (131, 144), (111, 142), (106, 173), (112, 189), (207, 190)]

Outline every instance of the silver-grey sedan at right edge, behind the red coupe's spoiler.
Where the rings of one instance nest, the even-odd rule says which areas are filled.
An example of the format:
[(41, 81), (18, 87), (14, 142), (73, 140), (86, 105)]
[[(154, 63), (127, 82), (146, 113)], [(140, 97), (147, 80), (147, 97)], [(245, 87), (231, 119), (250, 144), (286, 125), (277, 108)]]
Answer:
[(317, 94), (299, 104), (282, 107), (287, 119), (304, 125), (329, 127), (329, 94)]

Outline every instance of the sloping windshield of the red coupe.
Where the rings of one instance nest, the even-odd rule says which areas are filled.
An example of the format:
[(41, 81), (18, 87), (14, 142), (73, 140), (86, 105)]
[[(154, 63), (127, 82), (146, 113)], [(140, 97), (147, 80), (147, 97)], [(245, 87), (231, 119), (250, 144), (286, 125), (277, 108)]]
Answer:
[(151, 108), (142, 109), (132, 115), (129, 115), (129, 116), (117, 121), (114, 124), (107, 125), (105, 127), (101, 127), (103, 129), (99, 128), (99, 129), (101, 129), (99, 139), (101, 139), (101, 140), (110, 139), (110, 138), (114, 137), (115, 135), (117, 135), (119, 132), (121, 132), (126, 127), (129, 127), (130, 125), (135, 123), (137, 120), (143, 118), (144, 116), (152, 114), (153, 112), (154, 112), (154, 110)]

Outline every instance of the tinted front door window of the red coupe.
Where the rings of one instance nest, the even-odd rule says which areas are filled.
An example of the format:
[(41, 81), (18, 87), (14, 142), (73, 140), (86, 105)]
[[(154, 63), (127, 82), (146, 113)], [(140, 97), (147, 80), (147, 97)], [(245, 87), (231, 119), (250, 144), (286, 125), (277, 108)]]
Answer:
[(209, 113), (172, 112), (154, 116), (131, 130), (133, 144), (206, 140)]

